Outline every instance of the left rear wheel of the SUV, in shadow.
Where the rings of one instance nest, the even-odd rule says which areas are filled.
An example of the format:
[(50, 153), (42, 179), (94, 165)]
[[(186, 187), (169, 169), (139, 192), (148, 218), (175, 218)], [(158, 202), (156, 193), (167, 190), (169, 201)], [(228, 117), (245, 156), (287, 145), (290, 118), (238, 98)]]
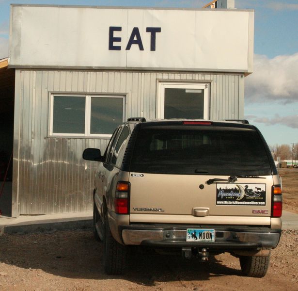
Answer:
[[(107, 212), (107, 211), (106, 211)], [(104, 236), (104, 268), (108, 275), (120, 275), (126, 266), (127, 248), (117, 242), (111, 232), (108, 215), (105, 214), (105, 236)]]

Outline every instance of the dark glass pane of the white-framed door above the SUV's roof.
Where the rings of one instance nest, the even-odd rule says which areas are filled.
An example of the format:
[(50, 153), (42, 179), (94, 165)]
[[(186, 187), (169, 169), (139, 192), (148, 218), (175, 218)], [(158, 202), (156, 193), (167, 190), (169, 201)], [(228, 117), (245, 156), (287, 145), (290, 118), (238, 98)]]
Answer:
[(164, 118), (204, 118), (204, 90), (165, 89)]

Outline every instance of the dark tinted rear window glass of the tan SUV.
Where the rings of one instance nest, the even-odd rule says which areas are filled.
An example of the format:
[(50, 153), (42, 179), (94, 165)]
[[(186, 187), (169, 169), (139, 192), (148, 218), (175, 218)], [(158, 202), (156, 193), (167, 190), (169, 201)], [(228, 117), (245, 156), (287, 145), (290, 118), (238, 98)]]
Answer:
[(263, 141), (250, 129), (142, 128), (131, 171), (156, 174), (270, 175)]

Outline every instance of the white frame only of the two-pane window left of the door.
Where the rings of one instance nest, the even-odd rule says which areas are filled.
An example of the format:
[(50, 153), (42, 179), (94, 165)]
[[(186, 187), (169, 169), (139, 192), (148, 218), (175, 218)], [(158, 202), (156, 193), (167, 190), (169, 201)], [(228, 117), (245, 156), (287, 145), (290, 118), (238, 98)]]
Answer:
[[(53, 132), (53, 114), (54, 114), (54, 97), (85, 97), (85, 133), (57, 133)], [(92, 134), (91, 129), (91, 98), (122, 98), (123, 99), (123, 112), (122, 122), (125, 122), (125, 95), (92, 95), (92, 94), (61, 94), (61, 93), (50, 93), (49, 100), (49, 125), (48, 125), (48, 136), (49, 137), (74, 137), (74, 138), (103, 138), (110, 139), (111, 134)]]

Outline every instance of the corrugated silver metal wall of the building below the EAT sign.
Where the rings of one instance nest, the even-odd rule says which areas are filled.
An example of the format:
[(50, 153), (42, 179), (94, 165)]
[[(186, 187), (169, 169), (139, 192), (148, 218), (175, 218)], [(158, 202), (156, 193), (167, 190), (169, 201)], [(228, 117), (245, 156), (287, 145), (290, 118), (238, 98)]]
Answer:
[(125, 117), (156, 118), (157, 81), (210, 83), (210, 119), (243, 118), (241, 74), (16, 69), (13, 216), (92, 210), (96, 162), (87, 147), (106, 139), (48, 138), (49, 92), (126, 95)]

